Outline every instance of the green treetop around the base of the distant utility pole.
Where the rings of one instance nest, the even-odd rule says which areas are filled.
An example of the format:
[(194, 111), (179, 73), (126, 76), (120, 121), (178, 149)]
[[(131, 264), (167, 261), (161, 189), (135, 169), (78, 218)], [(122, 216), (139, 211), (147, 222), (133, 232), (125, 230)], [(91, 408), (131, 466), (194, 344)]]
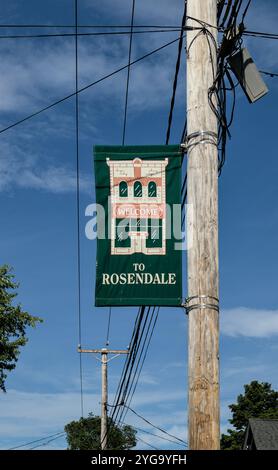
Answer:
[[(90, 413), (88, 418), (71, 421), (65, 426), (69, 450), (100, 450), (101, 418)], [(136, 431), (131, 426), (116, 426), (108, 418), (108, 449), (128, 450), (136, 445)]]

